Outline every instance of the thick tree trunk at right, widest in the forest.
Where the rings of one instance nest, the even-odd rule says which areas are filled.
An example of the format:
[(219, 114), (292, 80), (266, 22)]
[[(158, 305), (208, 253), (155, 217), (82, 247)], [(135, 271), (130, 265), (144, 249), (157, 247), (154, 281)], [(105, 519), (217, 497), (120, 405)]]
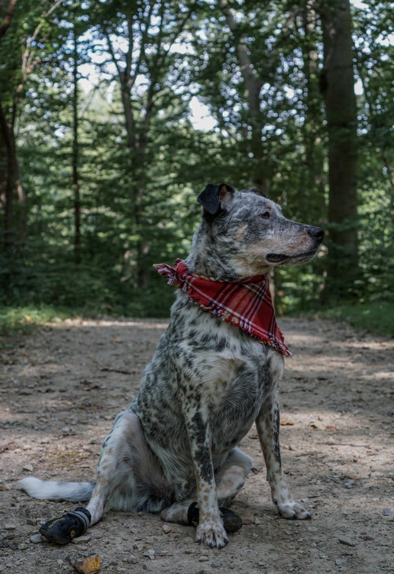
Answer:
[(358, 275), (357, 107), (349, 0), (320, 10), (324, 66), (320, 87), (329, 134), (329, 258), (325, 298), (354, 294)]

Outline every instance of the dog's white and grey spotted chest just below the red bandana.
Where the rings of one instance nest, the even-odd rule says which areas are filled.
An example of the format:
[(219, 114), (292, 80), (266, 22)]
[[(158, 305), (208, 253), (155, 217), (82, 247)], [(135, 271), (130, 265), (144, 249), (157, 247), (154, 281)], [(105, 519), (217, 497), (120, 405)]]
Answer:
[(208, 406), (213, 443), (237, 444), (275, 390), (283, 357), (195, 306), (174, 325), (170, 348), (188, 389), (183, 400), (191, 408)]

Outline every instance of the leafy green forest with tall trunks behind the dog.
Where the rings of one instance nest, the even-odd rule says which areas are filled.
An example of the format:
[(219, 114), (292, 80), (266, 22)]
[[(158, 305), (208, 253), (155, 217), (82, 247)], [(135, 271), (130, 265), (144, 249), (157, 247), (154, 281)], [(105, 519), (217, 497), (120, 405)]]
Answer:
[(225, 181), (326, 231), (276, 268), (279, 314), (394, 335), (393, 20), (380, 0), (2, 0), (3, 319), (168, 316), (153, 263), (187, 254)]

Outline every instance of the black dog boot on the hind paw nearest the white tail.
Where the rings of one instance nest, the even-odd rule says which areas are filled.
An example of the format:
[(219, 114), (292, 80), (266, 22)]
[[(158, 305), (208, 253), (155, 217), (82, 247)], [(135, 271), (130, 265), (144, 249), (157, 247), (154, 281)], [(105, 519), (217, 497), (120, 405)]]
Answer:
[(82, 536), (90, 525), (91, 515), (86, 508), (78, 506), (60, 518), (52, 518), (40, 528), (41, 536), (55, 544), (68, 544), (73, 538)]

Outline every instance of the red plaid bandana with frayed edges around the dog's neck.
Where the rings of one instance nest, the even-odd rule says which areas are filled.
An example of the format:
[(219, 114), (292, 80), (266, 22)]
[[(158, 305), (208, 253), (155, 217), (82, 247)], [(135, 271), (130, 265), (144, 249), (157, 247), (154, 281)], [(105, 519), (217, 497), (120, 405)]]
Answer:
[(239, 327), (261, 343), (271, 345), (282, 355), (291, 355), (276, 324), (268, 275), (233, 282), (213, 281), (210, 277), (190, 273), (181, 259), (176, 263), (176, 267), (165, 263), (154, 267), (168, 277), (168, 285), (177, 285), (206, 311), (222, 317), (226, 323)]

